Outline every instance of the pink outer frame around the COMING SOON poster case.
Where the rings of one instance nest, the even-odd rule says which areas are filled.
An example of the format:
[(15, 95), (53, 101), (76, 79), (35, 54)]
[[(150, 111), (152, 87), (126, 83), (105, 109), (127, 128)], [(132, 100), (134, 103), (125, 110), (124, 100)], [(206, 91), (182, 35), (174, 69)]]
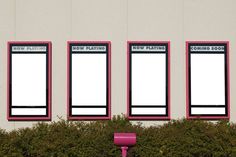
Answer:
[[(188, 97), (188, 93), (189, 93), (189, 78), (188, 78), (188, 74), (189, 74), (189, 71), (188, 71), (188, 64), (189, 64), (189, 60), (188, 60), (188, 45), (189, 44), (195, 44), (195, 43), (209, 43), (209, 44), (215, 44), (215, 43), (221, 43), (221, 44), (226, 44), (227, 46), (227, 51), (226, 51), (226, 54), (227, 54), (227, 58), (226, 58), (226, 65), (227, 65), (227, 83), (228, 83), (228, 96), (227, 96), (227, 100), (228, 100), (228, 107), (227, 107), (227, 116), (190, 116), (189, 115), (189, 110), (190, 110), (190, 107), (189, 107), (189, 97)], [(208, 119), (208, 120), (218, 120), (218, 119), (230, 119), (230, 66), (229, 66), (229, 41), (186, 41), (186, 117), (187, 119)]]

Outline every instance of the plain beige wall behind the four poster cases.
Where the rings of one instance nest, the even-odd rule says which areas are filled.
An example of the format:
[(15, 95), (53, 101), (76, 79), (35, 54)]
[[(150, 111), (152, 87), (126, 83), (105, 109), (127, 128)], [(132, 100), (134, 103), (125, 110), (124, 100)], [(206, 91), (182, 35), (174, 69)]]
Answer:
[[(230, 41), (231, 121), (236, 122), (235, 0), (0, 0), (0, 128), (6, 118), (7, 41), (53, 46), (52, 120), (66, 118), (66, 42), (112, 42), (112, 115), (126, 113), (127, 40), (171, 41), (171, 117), (185, 117), (185, 41)], [(145, 121), (145, 125), (160, 124)]]

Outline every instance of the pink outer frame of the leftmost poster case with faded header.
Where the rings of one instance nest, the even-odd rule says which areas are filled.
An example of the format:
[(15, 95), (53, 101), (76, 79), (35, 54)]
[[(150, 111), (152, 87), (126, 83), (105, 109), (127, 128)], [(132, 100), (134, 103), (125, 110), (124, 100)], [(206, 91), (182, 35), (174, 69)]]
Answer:
[[(11, 117), (9, 115), (10, 44), (48, 44), (48, 116)], [(52, 43), (51, 41), (8, 41), (7, 42), (7, 119), (9, 121), (50, 121), (52, 117)]]

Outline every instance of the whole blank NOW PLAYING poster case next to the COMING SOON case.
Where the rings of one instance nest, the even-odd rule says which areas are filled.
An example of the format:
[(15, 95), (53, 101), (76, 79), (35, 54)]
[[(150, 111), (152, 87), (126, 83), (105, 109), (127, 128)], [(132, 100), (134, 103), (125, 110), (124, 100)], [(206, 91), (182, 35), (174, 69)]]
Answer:
[(168, 52), (168, 42), (128, 42), (130, 119), (169, 118)]

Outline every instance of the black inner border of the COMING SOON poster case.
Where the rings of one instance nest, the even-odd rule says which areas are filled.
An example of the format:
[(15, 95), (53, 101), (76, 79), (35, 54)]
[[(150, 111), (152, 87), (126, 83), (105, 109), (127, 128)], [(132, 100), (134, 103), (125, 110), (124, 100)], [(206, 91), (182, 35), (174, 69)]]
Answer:
[[(191, 51), (191, 46), (224, 46), (224, 51)], [(189, 115), (190, 116), (202, 116), (202, 117), (210, 117), (210, 116), (219, 116), (219, 117), (225, 117), (228, 116), (228, 65), (227, 65), (227, 52), (228, 47), (226, 43), (188, 43), (188, 97), (189, 97)], [(224, 54), (224, 71), (225, 71), (225, 105), (192, 105), (191, 104), (191, 54)], [(209, 107), (224, 107), (225, 108), (225, 114), (192, 114), (191, 109), (193, 108), (209, 108)]]

